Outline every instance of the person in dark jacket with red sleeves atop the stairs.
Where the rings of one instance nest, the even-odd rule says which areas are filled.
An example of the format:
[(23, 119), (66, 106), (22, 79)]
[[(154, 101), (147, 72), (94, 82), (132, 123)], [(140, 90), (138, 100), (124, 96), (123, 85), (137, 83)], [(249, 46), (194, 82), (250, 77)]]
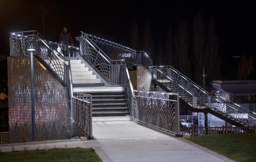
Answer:
[(71, 44), (71, 46), (73, 46), (73, 40), (71, 38), (71, 34), (68, 32), (68, 28), (64, 27), (63, 32), (60, 34), (60, 41), (59, 41), (59, 45), (61, 44), (61, 52), (64, 56), (69, 56), (68, 54), (68, 46), (69, 43)]

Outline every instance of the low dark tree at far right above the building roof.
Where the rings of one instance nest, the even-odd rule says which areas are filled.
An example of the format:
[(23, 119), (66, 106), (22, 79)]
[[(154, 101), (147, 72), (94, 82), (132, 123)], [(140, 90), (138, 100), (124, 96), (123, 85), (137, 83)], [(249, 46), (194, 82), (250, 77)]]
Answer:
[(238, 80), (246, 80), (250, 72), (254, 72), (254, 61), (252, 55), (244, 54), (238, 67)]

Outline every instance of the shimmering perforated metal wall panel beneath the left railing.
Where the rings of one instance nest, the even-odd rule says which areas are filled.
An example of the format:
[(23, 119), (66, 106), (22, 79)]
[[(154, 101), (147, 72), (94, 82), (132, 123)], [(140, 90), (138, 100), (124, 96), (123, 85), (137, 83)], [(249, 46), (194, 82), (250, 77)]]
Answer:
[[(21, 142), (20, 131), (31, 140), (30, 56), (7, 58), (9, 132), (11, 142)], [(68, 139), (70, 132), (67, 88), (62, 87), (34, 58), (36, 141)]]

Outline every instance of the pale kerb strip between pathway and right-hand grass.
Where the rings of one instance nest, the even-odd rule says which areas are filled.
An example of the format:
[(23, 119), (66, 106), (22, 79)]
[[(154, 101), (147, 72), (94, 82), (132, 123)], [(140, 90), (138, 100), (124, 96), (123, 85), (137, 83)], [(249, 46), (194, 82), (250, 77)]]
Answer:
[(217, 157), (217, 158), (219, 158), (219, 159), (221, 159), (221, 160), (224, 160), (224, 161), (227, 161), (227, 162), (235, 162), (234, 160), (231, 160), (231, 159), (227, 158), (226, 156), (220, 155), (220, 154), (217, 153), (217, 152), (214, 152), (214, 151), (209, 150), (209, 149), (207, 149), (207, 148), (205, 148), (205, 147), (202, 147), (201, 145), (198, 145), (198, 144), (196, 144), (196, 143), (193, 143), (193, 142), (191, 142), (191, 141), (189, 141), (189, 140), (187, 140), (187, 139), (184, 139), (183, 137), (177, 137), (177, 139), (180, 140), (180, 141), (182, 141), (182, 142), (185, 142), (185, 143), (187, 143), (187, 144), (190, 144), (190, 145), (192, 145), (193, 147), (196, 147), (196, 148), (198, 148), (198, 149), (200, 149), (200, 150), (202, 150), (202, 151), (204, 151), (204, 152), (207, 152), (207, 153), (211, 154), (212, 156), (215, 156), (215, 157)]

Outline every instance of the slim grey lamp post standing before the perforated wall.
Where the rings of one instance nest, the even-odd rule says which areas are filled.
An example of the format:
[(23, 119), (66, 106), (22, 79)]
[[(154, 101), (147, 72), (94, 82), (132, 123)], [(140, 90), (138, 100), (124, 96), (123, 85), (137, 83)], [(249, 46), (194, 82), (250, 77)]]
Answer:
[(35, 135), (35, 96), (34, 96), (34, 66), (33, 66), (33, 53), (35, 49), (28, 49), (30, 53), (30, 65), (31, 65), (31, 115), (32, 115), (32, 141), (36, 140)]

